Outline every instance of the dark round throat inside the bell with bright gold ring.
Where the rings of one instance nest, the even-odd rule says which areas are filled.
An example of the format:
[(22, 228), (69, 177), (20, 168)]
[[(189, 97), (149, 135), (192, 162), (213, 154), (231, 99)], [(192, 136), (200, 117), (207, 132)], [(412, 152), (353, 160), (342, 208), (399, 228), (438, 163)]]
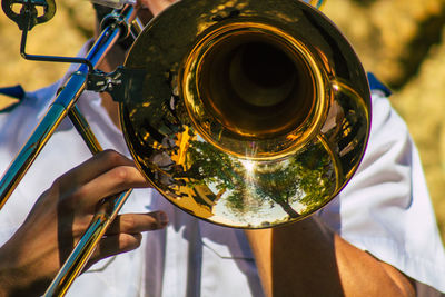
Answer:
[[(316, 130), (325, 108), (318, 72), (309, 51), (286, 32), (229, 22), (188, 55), (181, 96), (209, 143), (241, 158), (271, 158), (295, 150)], [(196, 83), (187, 83), (195, 76)], [(255, 141), (258, 149), (246, 150), (236, 139)]]

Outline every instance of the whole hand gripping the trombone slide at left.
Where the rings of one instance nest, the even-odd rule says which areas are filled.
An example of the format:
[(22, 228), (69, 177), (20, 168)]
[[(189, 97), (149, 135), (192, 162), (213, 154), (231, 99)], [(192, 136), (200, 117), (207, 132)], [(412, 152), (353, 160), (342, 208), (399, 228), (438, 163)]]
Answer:
[[(43, 293), (90, 224), (98, 202), (126, 189), (141, 187), (149, 184), (134, 162), (110, 150), (58, 178), (39, 197), (13, 237), (0, 248), (0, 296), (2, 290), (6, 295)], [(137, 248), (142, 231), (166, 225), (167, 217), (161, 211), (118, 216), (87, 266)]]

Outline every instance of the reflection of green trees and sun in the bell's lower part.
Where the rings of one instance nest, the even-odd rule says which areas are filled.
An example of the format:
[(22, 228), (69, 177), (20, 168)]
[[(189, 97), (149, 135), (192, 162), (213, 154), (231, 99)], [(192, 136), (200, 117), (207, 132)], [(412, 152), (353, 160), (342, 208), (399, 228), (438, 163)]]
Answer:
[(196, 140), (187, 152), (189, 167), (180, 178), (189, 180), (189, 187), (216, 189), (218, 192), (206, 195), (211, 201), (205, 205), (211, 209), (224, 195), (227, 209), (237, 216), (269, 204), (270, 209), (279, 206), (289, 218), (297, 218), (325, 204), (336, 189), (330, 156), (320, 142), (286, 161), (237, 160)]

